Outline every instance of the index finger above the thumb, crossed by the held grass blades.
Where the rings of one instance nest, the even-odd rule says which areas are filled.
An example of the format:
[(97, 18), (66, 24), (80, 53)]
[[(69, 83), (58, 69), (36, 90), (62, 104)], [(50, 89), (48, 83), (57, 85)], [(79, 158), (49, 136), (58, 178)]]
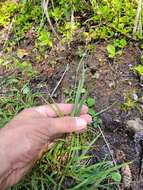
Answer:
[[(56, 107), (58, 107), (58, 110), (65, 116), (70, 115), (73, 109), (73, 104), (51, 104), (50, 105), (43, 105), (35, 107), (35, 111), (40, 113), (43, 116), (48, 117), (58, 117), (58, 110), (55, 111)], [(88, 112), (88, 107), (83, 105), (81, 109), (81, 114), (86, 114)]]

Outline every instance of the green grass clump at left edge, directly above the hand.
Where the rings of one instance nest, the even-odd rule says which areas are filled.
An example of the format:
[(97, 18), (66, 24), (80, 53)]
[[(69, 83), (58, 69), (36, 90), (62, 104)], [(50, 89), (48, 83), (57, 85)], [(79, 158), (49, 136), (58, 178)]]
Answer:
[(0, 128), (21, 110), (38, 104), (39, 93), (33, 93), (29, 82), (23, 83), (20, 76), (5, 77), (0, 82), (0, 91)]

